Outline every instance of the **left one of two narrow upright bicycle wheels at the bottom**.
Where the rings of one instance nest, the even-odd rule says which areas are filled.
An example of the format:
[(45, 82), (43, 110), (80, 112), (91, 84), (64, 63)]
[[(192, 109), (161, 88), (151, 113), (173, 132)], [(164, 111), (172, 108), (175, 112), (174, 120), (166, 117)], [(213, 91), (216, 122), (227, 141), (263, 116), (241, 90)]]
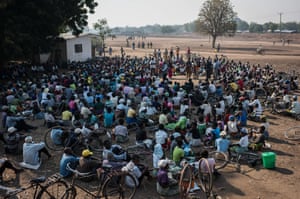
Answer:
[(191, 188), (193, 188), (193, 169), (189, 164), (186, 164), (181, 170), (179, 180), (179, 192), (180, 198), (188, 198), (188, 194)]

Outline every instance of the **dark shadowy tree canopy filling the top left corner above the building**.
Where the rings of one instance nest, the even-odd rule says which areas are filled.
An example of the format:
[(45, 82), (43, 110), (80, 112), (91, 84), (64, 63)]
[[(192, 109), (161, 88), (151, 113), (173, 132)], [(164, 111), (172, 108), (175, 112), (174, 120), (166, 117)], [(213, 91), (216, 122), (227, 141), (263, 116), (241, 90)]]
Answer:
[(0, 3), (0, 64), (32, 59), (61, 32), (80, 34), (94, 13), (94, 0), (3, 0)]

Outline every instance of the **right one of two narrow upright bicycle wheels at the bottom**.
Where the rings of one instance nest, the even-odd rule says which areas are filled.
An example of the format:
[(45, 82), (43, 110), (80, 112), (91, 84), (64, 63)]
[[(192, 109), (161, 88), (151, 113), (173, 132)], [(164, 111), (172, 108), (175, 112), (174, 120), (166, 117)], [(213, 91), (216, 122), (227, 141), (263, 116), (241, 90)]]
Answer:
[(209, 196), (212, 192), (213, 177), (209, 163), (205, 158), (199, 160), (198, 180), (201, 189)]

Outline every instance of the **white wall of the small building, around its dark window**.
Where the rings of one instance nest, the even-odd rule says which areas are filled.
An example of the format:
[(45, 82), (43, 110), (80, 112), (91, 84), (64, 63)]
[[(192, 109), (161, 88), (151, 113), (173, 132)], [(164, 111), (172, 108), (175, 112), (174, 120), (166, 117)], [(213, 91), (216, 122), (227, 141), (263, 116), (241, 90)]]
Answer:
[[(92, 43), (91, 38), (88, 35), (67, 39), (66, 42), (68, 61), (86, 61), (87, 59), (92, 58)], [(82, 45), (82, 52), (75, 52), (76, 44)]]

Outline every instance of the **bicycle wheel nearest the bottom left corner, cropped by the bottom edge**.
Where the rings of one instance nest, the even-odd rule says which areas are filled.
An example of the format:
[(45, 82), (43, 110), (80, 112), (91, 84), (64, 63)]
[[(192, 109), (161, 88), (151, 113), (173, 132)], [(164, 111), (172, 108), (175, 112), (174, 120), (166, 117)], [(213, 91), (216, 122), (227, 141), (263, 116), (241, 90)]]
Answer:
[(63, 180), (58, 180), (41, 189), (37, 199), (72, 199), (69, 197), (71, 195), (68, 190), (68, 184)]

